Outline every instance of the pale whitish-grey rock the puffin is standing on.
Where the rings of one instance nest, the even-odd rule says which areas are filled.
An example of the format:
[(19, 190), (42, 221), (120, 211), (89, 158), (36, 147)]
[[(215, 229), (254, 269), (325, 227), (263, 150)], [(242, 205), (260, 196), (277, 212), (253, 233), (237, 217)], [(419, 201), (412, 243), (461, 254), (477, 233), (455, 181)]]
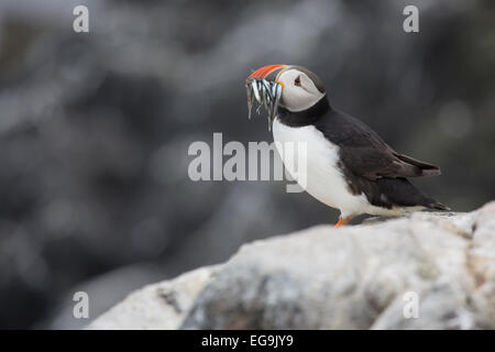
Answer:
[(89, 328), (494, 329), (495, 202), (249, 243)]

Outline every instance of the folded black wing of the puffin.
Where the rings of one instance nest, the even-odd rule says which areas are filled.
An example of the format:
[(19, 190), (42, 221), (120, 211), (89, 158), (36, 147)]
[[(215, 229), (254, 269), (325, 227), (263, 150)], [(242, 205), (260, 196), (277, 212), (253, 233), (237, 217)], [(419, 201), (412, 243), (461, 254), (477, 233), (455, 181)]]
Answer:
[(438, 166), (395, 152), (366, 124), (340, 111), (330, 110), (315, 125), (339, 145), (342, 163), (356, 176), (376, 180), (440, 175)]

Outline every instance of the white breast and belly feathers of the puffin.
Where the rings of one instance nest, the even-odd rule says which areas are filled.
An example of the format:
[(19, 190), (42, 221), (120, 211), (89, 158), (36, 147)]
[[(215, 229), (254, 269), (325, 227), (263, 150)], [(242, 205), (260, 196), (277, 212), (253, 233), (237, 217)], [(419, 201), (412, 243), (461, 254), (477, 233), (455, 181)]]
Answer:
[[(328, 141), (314, 125), (290, 128), (280, 123), (277, 118), (273, 123), (273, 136), (278, 142), (277, 150), (287, 170), (308, 194), (327, 206), (340, 209), (343, 217), (366, 212), (370, 208), (366, 197), (363, 194), (354, 196), (348, 190), (343, 174), (337, 166), (339, 146)], [(306, 143), (307, 155), (300, 155), (297, 146), (293, 154), (296, 157), (284, 155), (288, 153), (280, 151), (280, 147), (286, 142)], [(295, 161), (306, 161), (305, 182), (301, 182), (297, 173), (292, 173), (297, 169)]]

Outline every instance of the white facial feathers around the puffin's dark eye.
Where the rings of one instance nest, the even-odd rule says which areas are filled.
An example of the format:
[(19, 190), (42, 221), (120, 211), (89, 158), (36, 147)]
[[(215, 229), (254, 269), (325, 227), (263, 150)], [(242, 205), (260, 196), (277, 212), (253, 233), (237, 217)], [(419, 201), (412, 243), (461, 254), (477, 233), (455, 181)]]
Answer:
[(309, 109), (324, 97), (308, 75), (296, 68), (282, 72), (278, 81), (284, 85), (279, 105), (289, 111)]

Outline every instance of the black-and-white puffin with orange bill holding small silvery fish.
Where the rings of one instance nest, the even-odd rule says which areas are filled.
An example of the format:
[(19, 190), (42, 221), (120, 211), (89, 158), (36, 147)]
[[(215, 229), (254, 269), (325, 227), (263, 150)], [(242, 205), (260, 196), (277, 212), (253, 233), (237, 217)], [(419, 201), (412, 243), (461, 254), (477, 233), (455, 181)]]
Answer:
[[(253, 92), (258, 102), (262, 96), (262, 102), (274, 105), (265, 107), (273, 111), (268, 125), (278, 154), (309, 195), (340, 210), (336, 228), (360, 215), (397, 217), (419, 210), (450, 210), (408, 180), (438, 176), (440, 167), (396, 152), (361, 120), (334, 109), (322, 80), (309, 69), (264, 66), (246, 78), (246, 88), (250, 116)], [(304, 183), (290, 173), (294, 158), (280, 151), (286, 142), (306, 143)]]

